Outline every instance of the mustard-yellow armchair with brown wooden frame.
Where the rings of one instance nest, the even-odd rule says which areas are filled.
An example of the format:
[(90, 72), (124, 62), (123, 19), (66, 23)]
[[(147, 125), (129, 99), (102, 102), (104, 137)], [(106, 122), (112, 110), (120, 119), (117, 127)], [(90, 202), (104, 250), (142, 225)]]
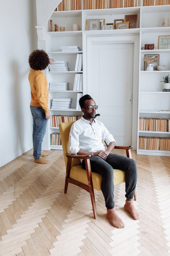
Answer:
[[(90, 156), (91, 155), (72, 155), (68, 154), (68, 140), (71, 125), (74, 122), (61, 123), (59, 124), (60, 136), (63, 146), (63, 154), (66, 166), (66, 180), (65, 180), (65, 189), (64, 193), (67, 193), (68, 183), (77, 185), (90, 193), (92, 209), (94, 217), (97, 218), (96, 202), (94, 189), (101, 190), (101, 181), (102, 176), (99, 173), (91, 172), (90, 167)], [(131, 146), (115, 146), (117, 149), (126, 150), (127, 157), (131, 157)], [(85, 160), (86, 170), (82, 168), (80, 159)], [(124, 171), (114, 169), (114, 185), (125, 182), (125, 173)], [(135, 200), (137, 198), (135, 191)]]

